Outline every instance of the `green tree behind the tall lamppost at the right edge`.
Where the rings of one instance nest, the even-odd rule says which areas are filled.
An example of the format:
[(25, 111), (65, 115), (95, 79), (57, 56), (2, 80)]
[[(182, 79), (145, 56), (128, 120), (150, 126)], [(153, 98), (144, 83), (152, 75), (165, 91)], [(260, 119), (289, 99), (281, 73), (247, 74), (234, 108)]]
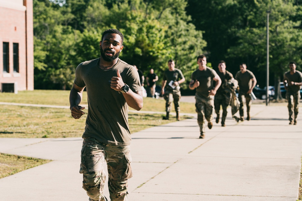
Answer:
[[(266, 19), (269, 14), (269, 66), (273, 81), (275, 82), (275, 98), (281, 98), (279, 93), (280, 81), (284, 72), (288, 71), (288, 62), (301, 63), (302, 33), (293, 26), (300, 21), (293, 21), (299, 6), (294, 1), (255, 1), (255, 9), (252, 11), (252, 26), (237, 33), (239, 38), (235, 46), (230, 47), (230, 58), (247, 58), (249, 63), (259, 69), (262, 74), (266, 72)], [(299, 69), (299, 67), (298, 67)], [(265, 78), (264, 78), (265, 80)], [(271, 82), (273, 83), (273, 82)]]

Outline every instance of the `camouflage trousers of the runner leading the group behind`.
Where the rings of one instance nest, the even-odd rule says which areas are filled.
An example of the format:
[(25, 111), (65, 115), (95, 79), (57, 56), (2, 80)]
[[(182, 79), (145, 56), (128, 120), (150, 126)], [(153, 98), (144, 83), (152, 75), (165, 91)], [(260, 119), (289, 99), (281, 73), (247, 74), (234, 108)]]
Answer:
[(213, 120), (214, 96), (204, 97), (195, 94), (195, 99), (197, 123), (199, 125), (200, 133), (205, 133), (204, 119), (208, 122)]

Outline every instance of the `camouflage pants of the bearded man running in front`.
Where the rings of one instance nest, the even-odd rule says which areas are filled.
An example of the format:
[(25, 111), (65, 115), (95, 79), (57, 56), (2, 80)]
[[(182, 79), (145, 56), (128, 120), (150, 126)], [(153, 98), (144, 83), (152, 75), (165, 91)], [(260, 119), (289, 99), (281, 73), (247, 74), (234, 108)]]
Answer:
[(81, 150), (80, 173), (89, 201), (107, 201), (104, 196), (105, 161), (111, 201), (127, 201), (128, 179), (132, 177), (130, 146), (104, 144), (86, 138)]

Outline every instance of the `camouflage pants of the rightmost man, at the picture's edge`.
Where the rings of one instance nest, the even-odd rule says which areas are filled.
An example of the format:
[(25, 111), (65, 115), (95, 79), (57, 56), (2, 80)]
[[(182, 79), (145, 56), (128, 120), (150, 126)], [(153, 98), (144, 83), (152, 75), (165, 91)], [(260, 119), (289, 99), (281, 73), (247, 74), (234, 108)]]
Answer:
[(300, 91), (297, 93), (286, 93), (286, 99), (288, 101), (288, 113), (289, 113), (289, 121), (292, 121), (297, 118), (299, 112), (299, 102), (300, 102)]

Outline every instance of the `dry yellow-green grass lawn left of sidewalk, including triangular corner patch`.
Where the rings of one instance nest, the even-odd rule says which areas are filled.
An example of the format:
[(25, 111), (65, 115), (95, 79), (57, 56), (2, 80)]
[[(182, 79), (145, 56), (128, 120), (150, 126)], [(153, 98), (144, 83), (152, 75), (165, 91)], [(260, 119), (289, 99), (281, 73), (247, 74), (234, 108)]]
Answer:
[[(34, 90), (20, 91), (18, 94), (0, 93), (0, 101), (69, 106), (69, 91)], [(83, 93), (81, 105), (88, 105), (86, 92)], [(129, 109), (131, 110), (131, 108)], [(195, 113), (194, 103), (181, 103), (181, 109), (184, 113)], [(76, 120), (71, 117), (69, 109), (1, 105), (0, 137), (81, 137), (85, 127), (87, 109), (84, 111), (86, 114)], [(163, 99), (144, 98), (142, 111), (164, 112), (165, 101)], [(185, 118), (191, 117), (182, 117), (182, 119)], [(162, 114), (129, 112), (128, 116), (131, 133), (157, 125), (168, 124), (175, 120), (173, 116), (170, 120), (162, 120)], [(47, 162), (50, 161), (0, 153), (0, 178)]]

